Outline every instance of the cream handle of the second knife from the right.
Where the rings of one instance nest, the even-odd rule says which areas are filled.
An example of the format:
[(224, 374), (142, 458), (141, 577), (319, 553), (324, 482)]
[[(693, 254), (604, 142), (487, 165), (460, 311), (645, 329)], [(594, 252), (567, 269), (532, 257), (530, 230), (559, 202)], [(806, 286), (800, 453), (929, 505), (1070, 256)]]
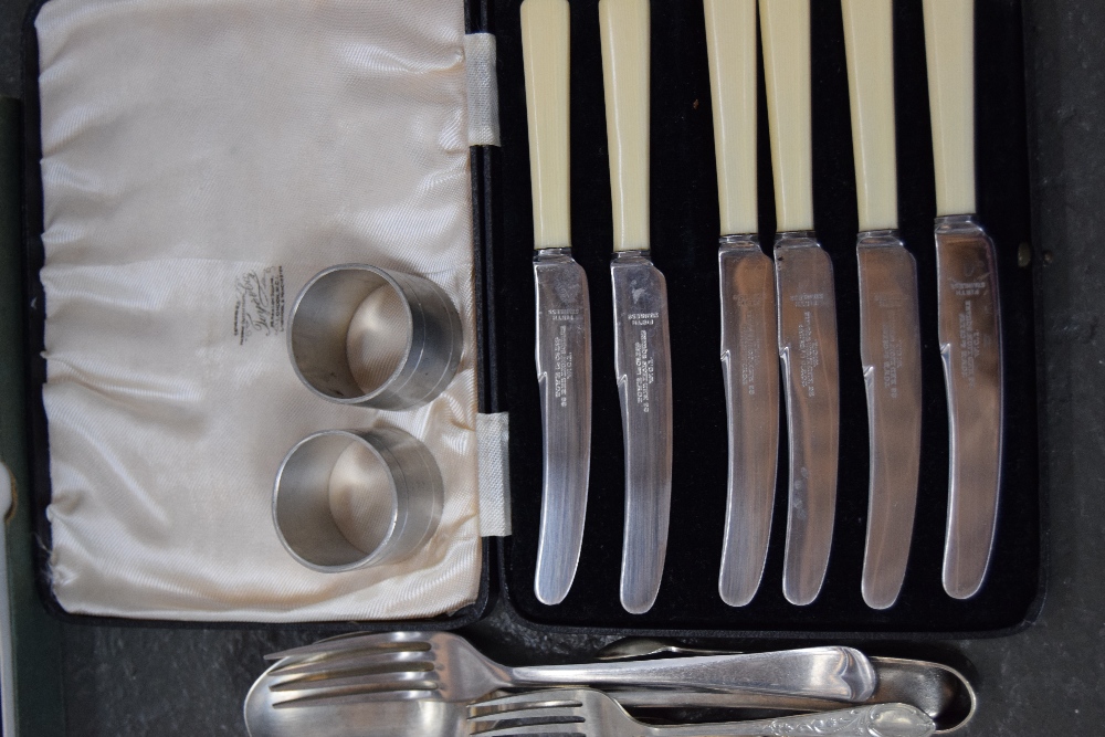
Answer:
[(842, 0), (860, 231), (897, 228), (893, 0)]

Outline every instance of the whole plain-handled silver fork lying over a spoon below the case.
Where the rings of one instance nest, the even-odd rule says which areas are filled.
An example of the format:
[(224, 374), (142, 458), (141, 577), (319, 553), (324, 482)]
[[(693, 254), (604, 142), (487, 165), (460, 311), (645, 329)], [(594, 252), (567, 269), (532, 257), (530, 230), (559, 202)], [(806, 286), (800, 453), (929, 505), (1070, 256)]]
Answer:
[(448, 632), (387, 632), (323, 640), (266, 655), (281, 662), (270, 688), (276, 708), (364, 699), (471, 702), (522, 686), (633, 686), (756, 692), (862, 702), (877, 676), (851, 647), (708, 655), (581, 665), (501, 665)]

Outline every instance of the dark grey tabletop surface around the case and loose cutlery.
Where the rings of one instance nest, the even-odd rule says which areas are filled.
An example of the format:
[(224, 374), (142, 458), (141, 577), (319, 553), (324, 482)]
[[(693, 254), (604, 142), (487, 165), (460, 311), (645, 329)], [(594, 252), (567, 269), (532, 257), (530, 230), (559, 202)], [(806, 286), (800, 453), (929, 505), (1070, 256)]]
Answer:
[[(999, 640), (949, 643), (978, 671), (979, 713), (965, 735), (1096, 734), (1105, 723), (1105, 3), (1025, 0), (1029, 141), (1035, 202), (1050, 495), (1050, 587), (1039, 622)], [(0, 0), (0, 94), (20, 95), (27, 0)], [(1034, 360), (1024, 356), (1024, 360)], [(69, 734), (244, 735), (241, 703), (262, 654), (316, 632), (63, 629)], [(529, 632), (496, 611), (471, 632), (488, 653), (564, 662), (610, 638)]]

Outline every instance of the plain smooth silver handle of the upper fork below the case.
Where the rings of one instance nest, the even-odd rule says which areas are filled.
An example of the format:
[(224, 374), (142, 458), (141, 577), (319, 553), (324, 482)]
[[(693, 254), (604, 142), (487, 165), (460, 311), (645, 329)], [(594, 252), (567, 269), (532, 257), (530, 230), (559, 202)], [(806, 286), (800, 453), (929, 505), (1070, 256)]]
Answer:
[(512, 685), (588, 685), (750, 691), (862, 702), (877, 685), (874, 667), (851, 647), (706, 655), (511, 668)]

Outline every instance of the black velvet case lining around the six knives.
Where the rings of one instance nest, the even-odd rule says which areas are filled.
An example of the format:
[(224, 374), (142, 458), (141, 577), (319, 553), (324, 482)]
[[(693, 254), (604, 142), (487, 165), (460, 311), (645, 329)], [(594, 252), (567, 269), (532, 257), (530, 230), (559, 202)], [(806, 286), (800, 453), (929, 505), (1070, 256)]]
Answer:
[[(898, 602), (867, 608), (860, 592), (867, 508), (867, 420), (859, 345), (855, 178), (838, 2), (811, 2), (814, 219), (835, 274), (840, 348), (841, 456), (832, 555), (820, 597), (796, 607), (782, 596), (787, 443), (760, 590), (744, 608), (717, 593), (726, 506), (726, 410), (719, 360), (717, 185), (699, 2), (652, 1), (652, 255), (667, 280), (674, 377), (674, 464), (664, 580), (645, 614), (619, 602), (623, 524), (621, 418), (613, 371), (609, 260), (612, 224), (597, 0), (571, 1), (572, 252), (587, 272), (592, 312), (593, 424), (587, 527), (575, 585), (558, 606), (533, 591), (541, 504), (541, 427), (534, 365), (525, 81), (517, 0), (488, 0), (497, 36), (502, 150), (486, 173), (493, 280), (486, 288), (498, 409), (511, 417), (514, 535), (501, 546), (503, 596), (530, 625), (587, 630), (794, 638), (978, 636), (1030, 623), (1042, 604), (1033, 272), (1019, 264), (1030, 241), (1021, 9), (977, 0), (976, 94), (979, 218), (999, 262), (1004, 340), (1004, 455), (996, 548), (974, 598), (943, 589), (948, 418), (937, 341), (936, 210), (922, 3), (897, 0), (895, 87), (901, 232), (918, 267), (924, 410), (922, 468), (909, 567)], [(762, 67), (762, 63), (761, 63)], [(759, 211), (770, 253), (775, 203), (760, 72)], [(1031, 251), (1028, 251), (1031, 253)], [(780, 432), (786, 432), (785, 420)]]

